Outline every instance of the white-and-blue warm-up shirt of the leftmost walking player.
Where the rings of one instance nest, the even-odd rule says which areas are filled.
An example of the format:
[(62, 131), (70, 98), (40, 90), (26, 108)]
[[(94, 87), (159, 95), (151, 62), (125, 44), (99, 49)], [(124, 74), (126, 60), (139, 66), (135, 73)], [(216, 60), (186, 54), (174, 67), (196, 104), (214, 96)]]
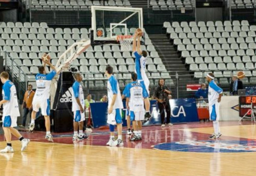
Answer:
[(10, 80), (4, 83), (2, 95), (3, 99), (8, 100), (8, 102), (3, 103), (3, 116), (20, 116), (17, 91)]

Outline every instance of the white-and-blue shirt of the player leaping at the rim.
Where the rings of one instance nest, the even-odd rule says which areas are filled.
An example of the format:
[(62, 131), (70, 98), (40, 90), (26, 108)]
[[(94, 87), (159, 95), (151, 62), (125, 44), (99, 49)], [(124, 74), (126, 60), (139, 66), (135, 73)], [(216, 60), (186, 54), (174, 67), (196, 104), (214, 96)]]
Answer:
[(144, 80), (145, 82), (149, 82), (148, 77), (146, 75), (146, 61), (147, 59), (141, 56), (137, 51), (134, 52), (135, 56), (135, 73), (138, 75), (138, 80)]

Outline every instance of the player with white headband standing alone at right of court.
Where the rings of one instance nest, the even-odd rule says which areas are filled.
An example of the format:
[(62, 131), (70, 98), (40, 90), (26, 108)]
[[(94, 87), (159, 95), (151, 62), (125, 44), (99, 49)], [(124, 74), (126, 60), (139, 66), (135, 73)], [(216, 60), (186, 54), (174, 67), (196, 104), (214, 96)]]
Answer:
[(221, 136), (219, 119), (220, 119), (220, 102), (223, 90), (214, 82), (214, 74), (209, 73), (206, 77), (209, 82), (208, 88), (208, 107), (210, 120), (213, 122), (214, 133), (209, 139), (218, 139)]

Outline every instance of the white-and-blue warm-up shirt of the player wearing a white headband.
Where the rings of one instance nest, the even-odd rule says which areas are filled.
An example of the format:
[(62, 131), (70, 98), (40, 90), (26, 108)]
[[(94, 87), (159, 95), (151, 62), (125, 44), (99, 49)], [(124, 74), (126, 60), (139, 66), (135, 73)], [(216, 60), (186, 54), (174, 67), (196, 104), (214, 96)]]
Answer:
[(216, 85), (214, 80), (209, 82), (209, 88), (208, 88), (208, 101), (209, 106), (214, 105), (218, 101), (219, 94), (222, 94), (223, 90)]

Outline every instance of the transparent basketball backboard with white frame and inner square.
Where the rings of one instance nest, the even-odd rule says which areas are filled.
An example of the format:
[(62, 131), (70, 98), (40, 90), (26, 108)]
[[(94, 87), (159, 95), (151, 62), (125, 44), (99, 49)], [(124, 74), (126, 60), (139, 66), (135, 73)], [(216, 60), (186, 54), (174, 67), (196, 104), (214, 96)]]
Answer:
[[(119, 43), (117, 36), (133, 35), (137, 28), (143, 29), (142, 8), (91, 6), (91, 45)], [(97, 36), (97, 31), (102, 36)]]

